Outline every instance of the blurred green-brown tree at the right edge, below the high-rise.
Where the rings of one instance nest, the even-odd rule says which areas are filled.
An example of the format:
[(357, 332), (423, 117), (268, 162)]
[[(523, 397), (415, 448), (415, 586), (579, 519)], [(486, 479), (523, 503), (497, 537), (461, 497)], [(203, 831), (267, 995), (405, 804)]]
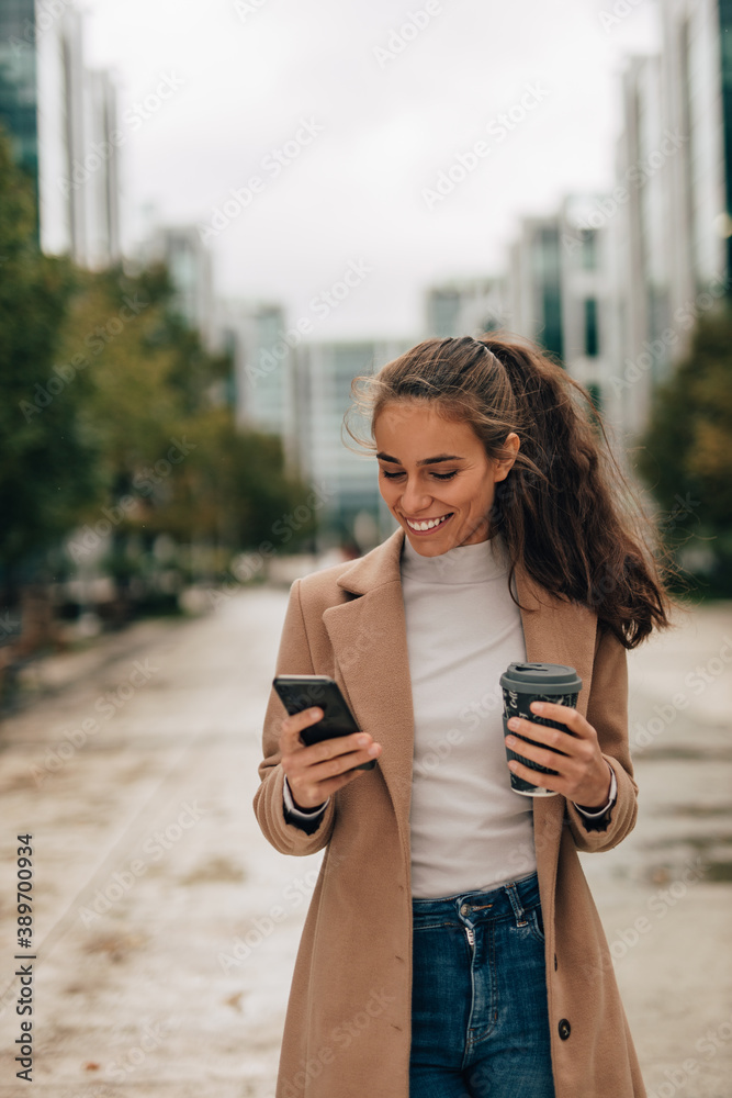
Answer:
[[(701, 317), (688, 356), (654, 394), (640, 471), (664, 508), (662, 535), (712, 590), (732, 591), (732, 309)], [(694, 550), (694, 554), (690, 552)], [(703, 557), (699, 557), (703, 559)], [(692, 567), (692, 564), (690, 565)]]

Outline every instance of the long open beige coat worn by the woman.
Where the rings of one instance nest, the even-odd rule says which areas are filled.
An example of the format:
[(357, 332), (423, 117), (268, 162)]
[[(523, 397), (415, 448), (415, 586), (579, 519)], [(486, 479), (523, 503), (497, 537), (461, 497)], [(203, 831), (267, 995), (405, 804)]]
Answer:
[[(357, 561), (295, 581), (290, 594), (277, 672), (331, 675), (383, 750), (373, 770), (331, 796), (316, 831), (286, 824), (278, 750), (284, 710), (272, 692), (254, 800), (259, 826), (283, 854), (325, 848), (295, 962), (277, 1098), (409, 1094), (414, 717), (403, 541), (399, 529)], [(605, 830), (589, 830), (590, 821), (563, 796), (532, 802), (555, 1095), (645, 1098), (607, 939), (577, 858), (577, 850), (610, 850), (635, 824), (626, 650), (611, 635), (600, 638), (587, 607), (548, 595), (522, 571), (516, 582), (528, 607), (521, 612), (527, 660), (577, 670), (584, 684), (577, 709), (597, 730), (618, 778)]]

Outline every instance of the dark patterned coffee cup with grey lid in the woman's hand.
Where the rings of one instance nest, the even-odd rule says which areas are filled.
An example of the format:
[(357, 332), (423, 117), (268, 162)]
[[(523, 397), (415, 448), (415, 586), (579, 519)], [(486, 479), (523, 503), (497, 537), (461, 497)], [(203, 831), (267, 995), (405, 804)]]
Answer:
[[(516, 736), (520, 740), (531, 739), (530, 736), (519, 736), (518, 732), (511, 731), (508, 727), (511, 717), (523, 717), (525, 720), (532, 720), (537, 725), (561, 728), (563, 732), (570, 732), (566, 725), (538, 716), (531, 712), (530, 706), (532, 702), (554, 702), (558, 705), (575, 706), (582, 690), (582, 679), (574, 668), (567, 668), (563, 663), (509, 663), (508, 670), (500, 676), (500, 686), (504, 692), (504, 736)], [(509, 748), (506, 748), (506, 754), (509, 759), (518, 759), (525, 766), (530, 766), (541, 774), (558, 773), (548, 766), (540, 766), (531, 759), (525, 759)], [(556, 789), (532, 785), (531, 782), (514, 773), (511, 773), (511, 789), (525, 797), (553, 797), (556, 794)]]

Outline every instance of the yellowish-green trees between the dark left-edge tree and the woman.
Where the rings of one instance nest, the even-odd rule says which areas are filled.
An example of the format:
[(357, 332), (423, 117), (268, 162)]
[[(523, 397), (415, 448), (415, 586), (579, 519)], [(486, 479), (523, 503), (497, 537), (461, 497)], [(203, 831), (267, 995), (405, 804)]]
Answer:
[[(237, 428), (222, 404), (230, 360), (205, 350), (170, 302), (161, 268), (88, 276), (65, 332), (67, 360), (81, 354), (93, 379), (85, 422), (105, 493), (89, 498), (82, 522), (92, 533), (71, 553), (80, 560), (93, 550), (97, 524), (111, 514), (109, 563), (120, 580), (131, 574), (132, 534), (147, 546), (168, 534), (230, 554), (275, 541), (278, 519), (305, 506), (307, 489), (285, 474), (279, 440)], [(290, 547), (314, 528), (314, 512), (300, 515), (284, 533)]]

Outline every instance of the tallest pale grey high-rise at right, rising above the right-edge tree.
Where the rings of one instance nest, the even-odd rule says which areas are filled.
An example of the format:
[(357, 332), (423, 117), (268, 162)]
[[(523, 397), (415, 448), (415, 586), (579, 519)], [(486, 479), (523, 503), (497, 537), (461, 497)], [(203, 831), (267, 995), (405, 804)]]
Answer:
[(611, 215), (618, 256), (611, 385), (631, 440), (699, 317), (731, 292), (732, 3), (667, 0), (657, 56), (622, 76)]

